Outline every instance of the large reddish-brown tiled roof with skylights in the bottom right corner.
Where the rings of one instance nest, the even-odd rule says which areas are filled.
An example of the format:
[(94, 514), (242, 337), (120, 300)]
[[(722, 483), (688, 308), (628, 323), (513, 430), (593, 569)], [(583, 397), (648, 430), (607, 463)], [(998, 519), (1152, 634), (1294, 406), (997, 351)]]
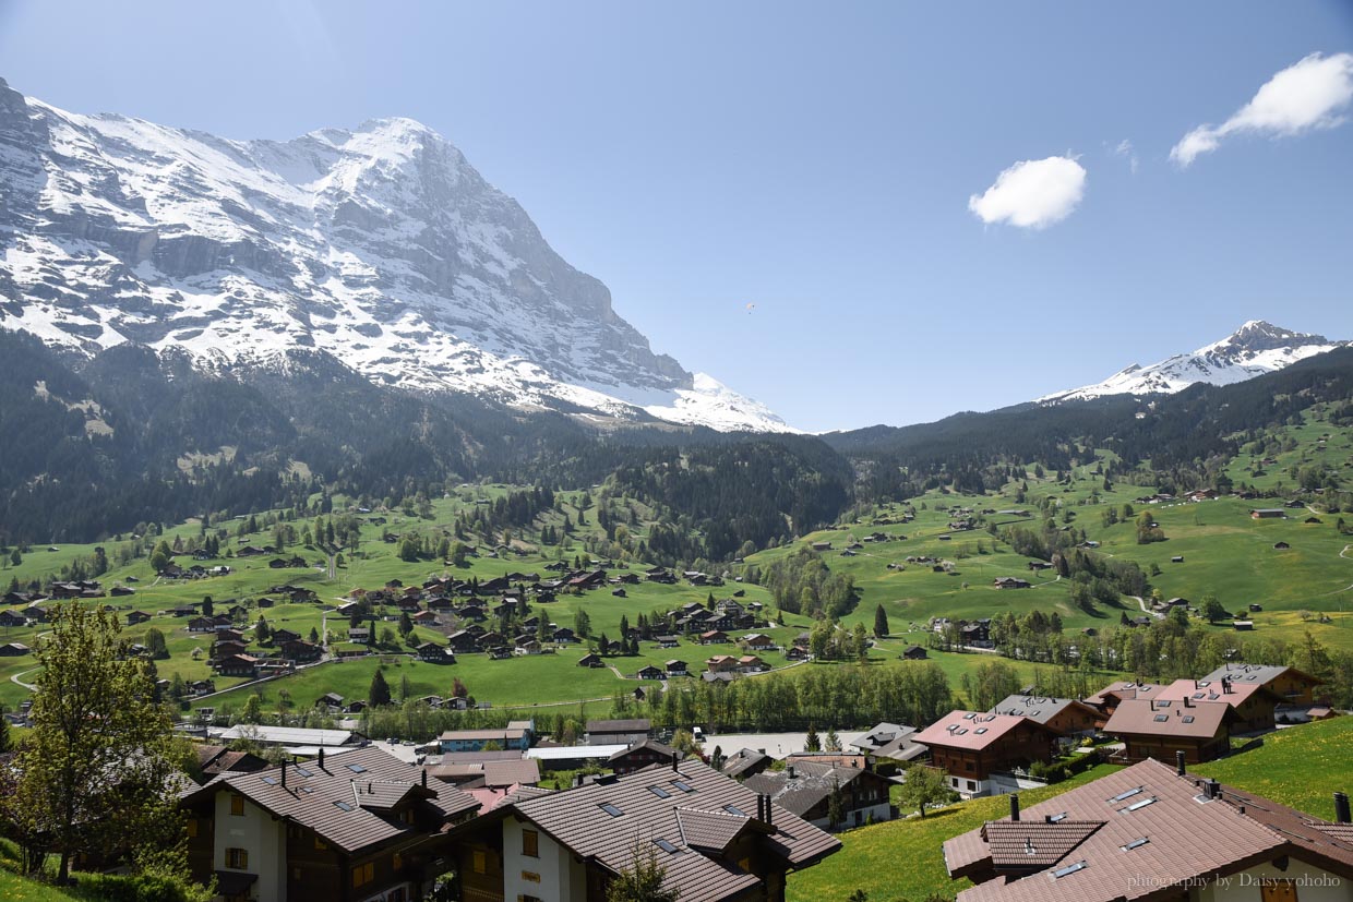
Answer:
[[(1353, 875), (1353, 844), (1330, 825), (1257, 795), (1220, 787), (1208, 798), (1201, 778), (1146, 760), (1030, 806), (1019, 824), (994, 821), (944, 842), (950, 874), (997, 870), (1019, 875), (1024, 836), (1058, 837), (1049, 828), (1078, 824), (1049, 847), (1049, 857), (1088, 825), (1099, 825), (1042, 870), (989, 879), (959, 902), (1111, 902), (1174, 898), (1191, 880), (1234, 874), (1281, 855)], [(1058, 818), (1055, 824), (1047, 822)], [(1022, 830), (1027, 830), (1024, 836)], [(994, 842), (990, 840), (996, 840)], [(1054, 841), (1050, 838), (1049, 841)], [(1038, 841), (1034, 841), (1035, 851)], [(1000, 851), (1000, 855), (997, 855)], [(1074, 871), (1063, 868), (1080, 864)], [(1012, 864), (1013, 863), (1013, 864)], [(1057, 876), (1062, 872), (1061, 876)], [(1143, 879), (1147, 878), (1147, 879)], [(1170, 895), (1173, 894), (1173, 895)]]

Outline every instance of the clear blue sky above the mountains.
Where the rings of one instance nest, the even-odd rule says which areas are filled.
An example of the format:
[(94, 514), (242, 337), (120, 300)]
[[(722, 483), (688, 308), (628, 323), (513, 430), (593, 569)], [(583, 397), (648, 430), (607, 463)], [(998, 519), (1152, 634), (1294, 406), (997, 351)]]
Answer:
[[(0, 76), (68, 110), (428, 123), (655, 349), (813, 430), (1017, 403), (1246, 319), (1353, 338), (1353, 108), (1235, 116), (1314, 53), (1353, 53), (1353, 3), (0, 0)], [(1215, 149), (1172, 160), (1204, 124)], [(1053, 157), (1023, 220), (1055, 222), (1011, 224), (1017, 191), (970, 208)]]

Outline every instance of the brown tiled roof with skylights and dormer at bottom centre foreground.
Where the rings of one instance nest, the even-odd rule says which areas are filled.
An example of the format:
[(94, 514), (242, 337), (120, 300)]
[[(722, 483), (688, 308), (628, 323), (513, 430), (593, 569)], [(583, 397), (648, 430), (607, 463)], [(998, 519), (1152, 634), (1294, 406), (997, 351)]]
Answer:
[[(614, 813), (603, 810), (603, 805)], [(679, 890), (682, 902), (716, 902), (759, 886), (755, 875), (701, 855), (683, 838), (682, 820), (693, 830), (697, 822), (701, 830), (712, 829), (712, 818), (700, 818), (695, 811), (750, 817), (758, 810), (755, 792), (694, 759), (681, 763), (678, 771), (655, 764), (626, 776), (518, 801), (511, 810), (575, 855), (613, 872), (632, 867), (636, 842), (664, 840), (676, 851), (658, 852), (666, 868), (663, 886)], [(767, 853), (779, 856), (790, 868), (812, 864), (840, 848), (840, 841), (778, 806), (773, 821), (760, 841)], [(701, 836), (701, 841), (717, 841), (717, 836)]]

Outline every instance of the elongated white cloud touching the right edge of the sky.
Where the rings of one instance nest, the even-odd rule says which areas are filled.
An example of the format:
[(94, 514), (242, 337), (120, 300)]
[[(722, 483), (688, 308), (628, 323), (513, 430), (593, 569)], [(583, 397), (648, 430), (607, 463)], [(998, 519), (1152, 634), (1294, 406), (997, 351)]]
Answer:
[(1199, 126), (1184, 135), (1170, 160), (1188, 166), (1234, 134), (1287, 138), (1312, 128), (1333, 128), (1353, 100), (1353, 54), (1312, 53), (1269, 78), (1254, 99), (1219, 126)]

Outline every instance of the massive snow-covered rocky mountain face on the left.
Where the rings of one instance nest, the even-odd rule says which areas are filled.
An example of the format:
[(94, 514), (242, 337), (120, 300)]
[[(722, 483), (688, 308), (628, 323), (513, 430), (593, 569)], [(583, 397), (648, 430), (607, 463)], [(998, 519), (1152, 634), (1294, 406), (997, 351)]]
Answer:
[(203, 369), (313, 348), (402, 388), (793, 431), (655, 354), (601, 281), (410, 119), (227, 141), (0, 80), (0, 327), (87, 354), (183, 349)]

